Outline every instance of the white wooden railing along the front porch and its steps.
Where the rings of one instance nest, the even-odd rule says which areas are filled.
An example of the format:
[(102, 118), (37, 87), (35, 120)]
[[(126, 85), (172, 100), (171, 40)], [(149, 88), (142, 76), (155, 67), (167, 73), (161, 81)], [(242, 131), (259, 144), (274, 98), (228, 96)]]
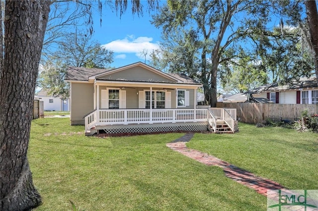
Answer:
[[(230, 112), (229, 112), (230, 111)], [(209, 122), (213, 131), (217, 118), (223, 119), (234, 131), (236, 111), (223, 108), (185, 109), (95, 109), (85, 116), (85, 132), (96, 125), (127, 125), (142, 123)], [(232, 113), (231, 113), (232, 112)]]

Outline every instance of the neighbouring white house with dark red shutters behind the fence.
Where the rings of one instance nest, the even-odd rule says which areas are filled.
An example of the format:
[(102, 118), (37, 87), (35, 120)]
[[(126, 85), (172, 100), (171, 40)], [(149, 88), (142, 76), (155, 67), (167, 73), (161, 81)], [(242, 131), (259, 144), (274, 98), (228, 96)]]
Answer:
[(271, 83), (252, 89), (255, 98), (267, 98), (276, 104), (318, 104), (317, 78), (300, 78), (288, 85)]

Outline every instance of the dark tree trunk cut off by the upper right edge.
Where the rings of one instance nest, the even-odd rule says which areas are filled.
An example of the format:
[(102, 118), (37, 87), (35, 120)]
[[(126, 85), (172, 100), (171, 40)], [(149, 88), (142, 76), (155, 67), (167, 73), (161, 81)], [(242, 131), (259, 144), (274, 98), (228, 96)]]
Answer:
[[(305, 0), (311, 48), (315, 58), (315, 72), (318, 79), (318, 11), (316, 0)], [(317, 80), (318, 86), (318, 80)]]

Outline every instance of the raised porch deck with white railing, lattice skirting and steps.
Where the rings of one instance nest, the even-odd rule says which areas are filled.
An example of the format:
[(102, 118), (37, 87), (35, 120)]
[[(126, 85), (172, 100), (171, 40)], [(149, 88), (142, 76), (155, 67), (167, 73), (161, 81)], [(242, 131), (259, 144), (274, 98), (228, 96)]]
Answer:
[(236, 109), (196, 108), (174, 109), (95, 109), (85, 116), (85, 134), (153, 133), (171, 131), (238, 131)]

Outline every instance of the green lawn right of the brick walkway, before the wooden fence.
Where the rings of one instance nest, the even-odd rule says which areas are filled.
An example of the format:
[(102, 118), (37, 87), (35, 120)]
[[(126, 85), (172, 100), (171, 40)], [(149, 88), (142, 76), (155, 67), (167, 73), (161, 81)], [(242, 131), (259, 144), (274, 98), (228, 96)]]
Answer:
[(209, 153), (291, 190), (318, 187), (318, 134), (239, 124), (235, 134), (196, 134), (191, 149)]

